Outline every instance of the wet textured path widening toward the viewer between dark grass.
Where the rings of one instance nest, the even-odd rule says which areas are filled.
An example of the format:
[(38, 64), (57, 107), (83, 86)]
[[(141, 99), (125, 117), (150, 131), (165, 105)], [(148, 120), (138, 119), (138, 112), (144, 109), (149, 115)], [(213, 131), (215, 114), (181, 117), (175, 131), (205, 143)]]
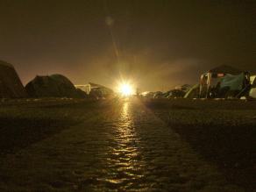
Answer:
[(1, 191), (244, 191), (138, 100), (74, 115), (1, 156)]

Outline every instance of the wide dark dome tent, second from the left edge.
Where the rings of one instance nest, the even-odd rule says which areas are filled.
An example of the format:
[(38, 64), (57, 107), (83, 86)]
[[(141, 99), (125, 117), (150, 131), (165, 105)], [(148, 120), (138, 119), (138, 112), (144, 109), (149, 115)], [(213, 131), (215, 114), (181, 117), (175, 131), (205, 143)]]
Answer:
[(63, 75), (37, 75), (27, 83), (25, 89), (31, 97), (83, 98), (87, 96), (81, 89), (76, 89), (74, 84)]

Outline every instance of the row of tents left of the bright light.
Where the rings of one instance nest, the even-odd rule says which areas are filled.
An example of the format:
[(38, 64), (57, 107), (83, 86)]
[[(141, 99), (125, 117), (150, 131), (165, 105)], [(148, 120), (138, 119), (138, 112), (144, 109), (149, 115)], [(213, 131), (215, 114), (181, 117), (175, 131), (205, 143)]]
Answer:
[[(70, 97), (85, 98), (88, 96), (101, 97), (113, 93), (111, 89), (95, 83), (89, 83), (86, 93), (63, 75), (37, 75), (24, 87), (17, 72), (10, 63), (0, 60), (0, 98), (24, 97)], [(89, 94), (89, 95), (88, 95)]]

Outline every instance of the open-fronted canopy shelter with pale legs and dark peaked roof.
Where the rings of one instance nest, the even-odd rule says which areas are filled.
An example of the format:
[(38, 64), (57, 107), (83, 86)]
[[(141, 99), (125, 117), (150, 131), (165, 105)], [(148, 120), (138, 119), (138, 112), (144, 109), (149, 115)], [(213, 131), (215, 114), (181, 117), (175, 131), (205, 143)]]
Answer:
[[(212, 68), (208, 72), (201, 75), (199, 96), (204, 98), (217, 97), (217, 92), (220, 83), (222, 85), (222, 94), (224, 94), (224, 87), (226, 90), (229, 90), (230, 88), (231, 90), (234, 90), (234, 87), (236, 87), (236, 85), (233, 84), (231, 86), (231, 84), (235, 83), (236, 81), (241, 82), (241, 80), (243, 79), (242, 82), (244, 82), (244, 84), (236, 88), (236, 90), (242, 90), (244, 89), (243, 86), (245, 86), (246, 79), (248, 78), (249, 77), (247, 73), (238, 68), (233, 68), (231, 66), (221, 65), (217, 68)], [(227, 84), (228, 82), (229, 84)]]

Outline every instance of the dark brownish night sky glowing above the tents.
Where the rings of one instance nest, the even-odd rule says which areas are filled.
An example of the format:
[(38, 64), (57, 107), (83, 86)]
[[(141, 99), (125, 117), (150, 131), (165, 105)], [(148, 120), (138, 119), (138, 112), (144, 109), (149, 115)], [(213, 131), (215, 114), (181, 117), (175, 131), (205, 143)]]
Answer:
[(254, 0), (0, 0), (0, 24), (0, 60), (24, 84), (59, 73), (156, 90), (195, 83), (220, 64), (256, 73)]

